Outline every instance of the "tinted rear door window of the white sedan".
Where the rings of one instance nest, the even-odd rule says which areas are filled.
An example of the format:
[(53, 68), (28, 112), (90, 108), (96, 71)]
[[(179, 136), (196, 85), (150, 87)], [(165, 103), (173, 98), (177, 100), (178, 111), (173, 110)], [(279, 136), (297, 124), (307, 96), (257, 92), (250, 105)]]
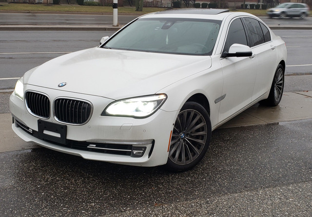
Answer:
[(243, 20), (246, 24), (250, 47), (264, 43), (265, 40), (259, 21), (254, 18), (243, 18)]

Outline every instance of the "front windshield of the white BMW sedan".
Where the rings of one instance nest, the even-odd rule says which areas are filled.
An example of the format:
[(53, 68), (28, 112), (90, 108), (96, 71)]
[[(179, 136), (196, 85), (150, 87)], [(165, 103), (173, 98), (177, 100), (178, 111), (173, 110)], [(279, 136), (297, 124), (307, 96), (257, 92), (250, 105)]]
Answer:
[(211, 55), (221, 21), (139, 18), (103, 48), (169, 54)]

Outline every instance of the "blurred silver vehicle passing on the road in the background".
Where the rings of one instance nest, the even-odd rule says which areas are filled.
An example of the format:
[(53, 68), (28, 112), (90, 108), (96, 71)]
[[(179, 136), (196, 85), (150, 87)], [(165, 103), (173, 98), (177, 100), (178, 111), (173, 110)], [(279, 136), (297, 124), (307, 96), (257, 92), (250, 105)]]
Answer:
[(267, 10), (267, 15), (270, 18), (279, 17), (299, 17), (301, 19), (307, 17), (310, 14), (310, 8), (307, 4), (303, 3), (282, 3), (274, 8)]

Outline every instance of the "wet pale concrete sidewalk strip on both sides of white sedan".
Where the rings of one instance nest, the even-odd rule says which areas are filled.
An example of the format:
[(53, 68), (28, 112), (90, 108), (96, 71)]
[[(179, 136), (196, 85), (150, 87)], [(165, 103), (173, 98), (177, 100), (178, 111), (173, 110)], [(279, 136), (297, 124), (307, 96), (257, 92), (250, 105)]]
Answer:
[[(263, 125), (312, 118), (312, 91), (285, 92), (276, 107), (255, 104), (219, 128)], [(39, 147), (21, 140), (11, 129), (10, 113), (0, 114), (0, 152)]]

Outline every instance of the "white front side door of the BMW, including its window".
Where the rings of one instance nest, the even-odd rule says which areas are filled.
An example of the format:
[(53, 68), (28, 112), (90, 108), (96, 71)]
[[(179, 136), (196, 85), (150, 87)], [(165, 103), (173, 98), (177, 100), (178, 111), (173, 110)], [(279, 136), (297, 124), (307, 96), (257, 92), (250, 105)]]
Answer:
[[(241, 18), (236, 18), (228, 29), (224, 51), (233, 44), (248, 45)], [(219, 110), (219, 122), (227, 119), (252, 102), (254, 82), (257, 73), (256, 56), (226, 57), (220, 62), (223, 70), (223, 91)]]

